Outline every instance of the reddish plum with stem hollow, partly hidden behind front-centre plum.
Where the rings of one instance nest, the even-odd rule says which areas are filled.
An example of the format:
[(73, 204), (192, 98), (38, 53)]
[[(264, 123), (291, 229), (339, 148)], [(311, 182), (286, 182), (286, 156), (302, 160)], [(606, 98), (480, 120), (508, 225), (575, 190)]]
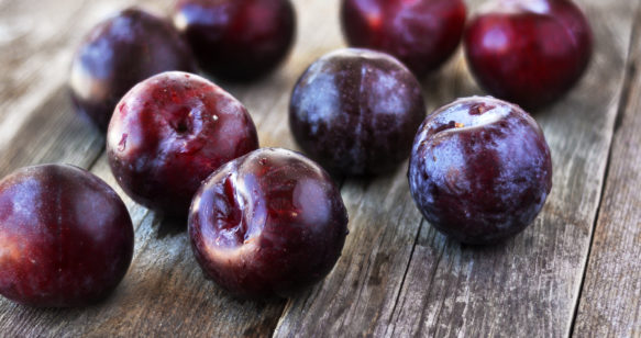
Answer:
[(136, 202), (185, 217), (211, 172), (258, 147), (247, 110), (196, 75), (168, 71), (118, 104), (107, 133), (111, 171)]

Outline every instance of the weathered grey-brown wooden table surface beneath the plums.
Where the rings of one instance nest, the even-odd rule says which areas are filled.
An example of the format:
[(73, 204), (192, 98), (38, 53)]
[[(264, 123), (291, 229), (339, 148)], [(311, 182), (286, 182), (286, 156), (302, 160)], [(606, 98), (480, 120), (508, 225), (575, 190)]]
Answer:
[[(74, 114), (65, 83), (82, 35), (133, 2), (0, 0), (0, 176), (67, 162), (118, 189), (104, 137)], [(161, 13), (172, 5), (136, 2)], [(471, 10), (482, 2), (468, 1)], [(554, 188), (516, 238), (475, 248), (436, 233), (410, 198), (406, 162), (343, 183), (351, 234), (323, 282), (290, 300), (237, 301), (202, 278), (184, 226), (119, 190), (136, 241), (115, 293), (76, 309), (1, 300), (0, 336), (640, 336), (641, 11), (637, 1), (579, 2), (596, 54), (579, 86), (534, 115), (552, 148)], [(297, 149), (289, 93), (311, 61), (344, 46), (338, 3), (295, 1), (298, 37), (287, 63), (253, 84), (222, 83), (251, 111), (263, 146)], [(424, 93), (431, 111), (483, 91), (458, 52)]]

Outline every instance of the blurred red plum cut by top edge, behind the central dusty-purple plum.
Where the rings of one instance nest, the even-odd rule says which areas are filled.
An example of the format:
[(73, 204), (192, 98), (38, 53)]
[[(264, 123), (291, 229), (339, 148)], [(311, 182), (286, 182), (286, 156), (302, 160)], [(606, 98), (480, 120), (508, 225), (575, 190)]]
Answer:
[(350, 46), (388, 53), (422, 78), (454, 54), (466, 14), (462, 0), (343, 0), (341, 23)]

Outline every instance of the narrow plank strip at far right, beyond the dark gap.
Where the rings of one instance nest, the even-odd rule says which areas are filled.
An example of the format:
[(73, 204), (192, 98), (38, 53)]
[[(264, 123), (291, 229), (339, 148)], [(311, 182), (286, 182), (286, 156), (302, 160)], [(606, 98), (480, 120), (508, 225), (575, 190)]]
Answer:
[(574, 336), (641, 336), (641, 5)]

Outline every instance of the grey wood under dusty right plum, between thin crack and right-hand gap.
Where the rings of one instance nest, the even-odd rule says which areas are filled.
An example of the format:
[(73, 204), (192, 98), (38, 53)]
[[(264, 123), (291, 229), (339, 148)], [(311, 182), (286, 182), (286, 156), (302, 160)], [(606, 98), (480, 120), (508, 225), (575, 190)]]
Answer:
[[(582, 3), (595, 30), (592, 68), (571, 97), (535, 115), (554, 162), (555, 188), (542, 215), (524, 234), (491, 248), (442, 244), (431, 227), (423, 227), (387, 335), (570, 333), (623, 88), (634, 9), (621, 2)], [(429, 277), (429, 285), (420, 285), (422, 277)]]

